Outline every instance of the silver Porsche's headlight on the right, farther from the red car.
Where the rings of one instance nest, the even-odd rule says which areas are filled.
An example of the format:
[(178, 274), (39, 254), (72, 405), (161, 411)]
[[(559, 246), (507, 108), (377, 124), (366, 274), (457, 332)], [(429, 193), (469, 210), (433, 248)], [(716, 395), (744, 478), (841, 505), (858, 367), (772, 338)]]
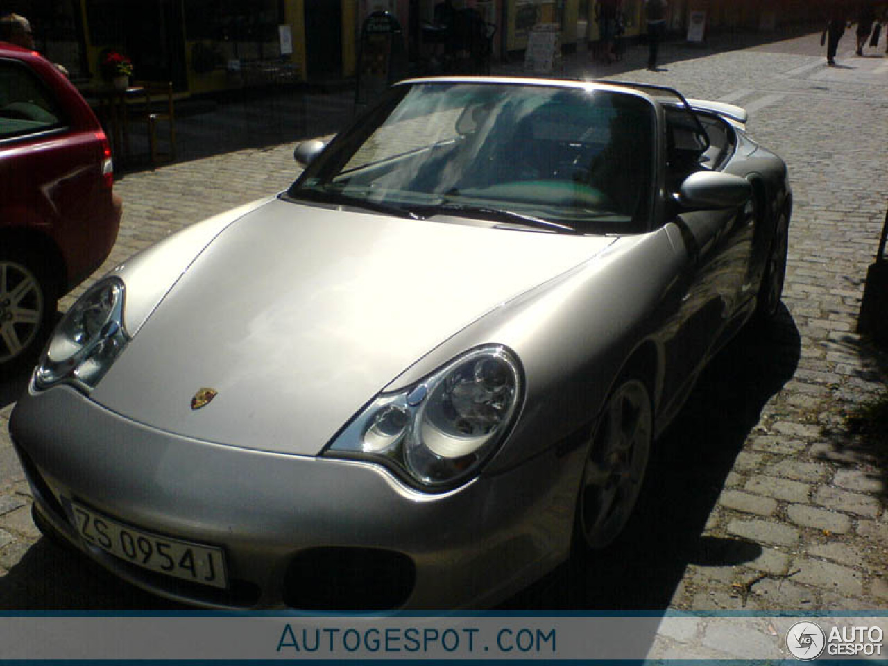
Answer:
[(406, 391), (380, 395), (323, 455), (380, 462), (416, 488), (454, 488), (503, 441), (521, 392), (514, 355), (482, 347)]

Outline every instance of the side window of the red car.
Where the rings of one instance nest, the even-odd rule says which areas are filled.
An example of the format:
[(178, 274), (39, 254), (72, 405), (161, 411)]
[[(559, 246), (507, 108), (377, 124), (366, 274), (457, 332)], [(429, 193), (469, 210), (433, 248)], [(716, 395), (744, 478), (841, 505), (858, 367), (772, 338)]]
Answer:
[(28, 67), (0, 60), (0, 140), (52, 130), (64, 123), (58, 104)]

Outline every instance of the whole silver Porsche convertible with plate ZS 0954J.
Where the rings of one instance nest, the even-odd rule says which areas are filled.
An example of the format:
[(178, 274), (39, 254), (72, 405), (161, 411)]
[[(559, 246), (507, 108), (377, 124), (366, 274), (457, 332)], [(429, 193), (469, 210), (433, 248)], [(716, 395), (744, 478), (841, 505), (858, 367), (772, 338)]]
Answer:
[(745, 122), (637, 83), (393, 86), (67, 312), (11, 421), (37, 524), (236, 609), (489, 607), (607, 547), (704, 364), (780, 306), (787, 169)]

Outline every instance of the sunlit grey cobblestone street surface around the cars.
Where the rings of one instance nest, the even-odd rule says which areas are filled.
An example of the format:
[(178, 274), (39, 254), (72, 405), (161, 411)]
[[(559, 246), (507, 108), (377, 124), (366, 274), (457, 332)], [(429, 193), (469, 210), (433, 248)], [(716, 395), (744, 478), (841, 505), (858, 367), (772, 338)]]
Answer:
[[(826, 67), (819, 39), (666, 44), (659, 72), (644, 68), (643, 46), (612, 67), (592, 65), (584, 52), (565, 59), (564, 75), (662, 83), (749, 110), (749, 134), (789, 163), (795, 206), (786, 309), (767, 336), (741, 335), (702, 377), (659, 442), (644, 519), (626, 543), (567, 563), (507, 608), (888, 607), (888, 443), (884, 432), (874, 442), (848, 422), (884, 392), (888, 377), (884, 353), (854, 332), (888, 206), (888, 56), (880, 48), (854, 57), (846, 35), (839, 67)], [(523, 71), (503, 65), (496, 73)], [(331, 100), (347, 116), (350, 93), (324, 103)], [(286, 102), (278, 110), (286, 113)], [(313, 106), (299, 113), (309, 131)], [(183, 118), (183, 132), (189, 121), (202, 124), (201, 116)], [(116, 184), (123, 227), (96, 277), (194, 221), (280, 191), (297, 174), (293, 147), (126, 174)], [(0, 384), (0, 609), (174, 608), (40, 538), (7, 434), (25, 382)], [(696, 641), (698, 658), (737, 658), (749, 635), (665, 636), (652, 654), (669, 656), (678, 643)]]

